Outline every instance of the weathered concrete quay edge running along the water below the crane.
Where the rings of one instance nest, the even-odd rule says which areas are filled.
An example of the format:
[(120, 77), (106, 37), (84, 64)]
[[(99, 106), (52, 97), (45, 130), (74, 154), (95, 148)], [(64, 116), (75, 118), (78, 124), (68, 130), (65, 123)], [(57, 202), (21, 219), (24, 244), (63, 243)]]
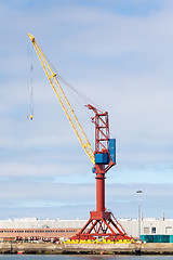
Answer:
[(0, 243), (0, 253), (173, 255), (173, 243), (162, 244)]

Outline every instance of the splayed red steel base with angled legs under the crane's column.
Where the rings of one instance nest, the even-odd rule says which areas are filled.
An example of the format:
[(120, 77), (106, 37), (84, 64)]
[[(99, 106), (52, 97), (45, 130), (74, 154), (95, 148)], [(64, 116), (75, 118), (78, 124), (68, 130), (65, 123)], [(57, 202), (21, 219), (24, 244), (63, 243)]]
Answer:
[(123, 230), (122, 225), (117, 221), (109, 211), (91, 211), (90, 219), (79, 233), (70, 237), (72, 240), (131, 240)]

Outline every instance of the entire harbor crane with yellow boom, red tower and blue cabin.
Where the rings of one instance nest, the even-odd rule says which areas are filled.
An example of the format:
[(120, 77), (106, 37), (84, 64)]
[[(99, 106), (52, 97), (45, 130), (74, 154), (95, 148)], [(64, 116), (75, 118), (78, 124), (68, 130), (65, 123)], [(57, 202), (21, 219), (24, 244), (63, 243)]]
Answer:
[(105, 174), (116, 165), (116, 140), (109, 136), (108, 112), (102, 112), (91, 104), (86, 105), (86, 107), (94, 113), (92, 122), (95, 125), (95, 151), (93, 152), (88, 136), (57, 80), (56, 73), (53, 72), (48, 58), (45, 58), (41, 48), (37, 43), (35, 36), (28, 34), (28, 37), (34, 44), (44, 73), (81, 146), (94, 165), (93, 173), (95, 173), (96, 179), (96, 210), (90, 211), (89, 221), (79, 233), (71, 237), (71, 240), (95, 240), (101, 237), (106, 240), (131, 240), (132, 237), (125, 233), (114, 214), (105, 208)]

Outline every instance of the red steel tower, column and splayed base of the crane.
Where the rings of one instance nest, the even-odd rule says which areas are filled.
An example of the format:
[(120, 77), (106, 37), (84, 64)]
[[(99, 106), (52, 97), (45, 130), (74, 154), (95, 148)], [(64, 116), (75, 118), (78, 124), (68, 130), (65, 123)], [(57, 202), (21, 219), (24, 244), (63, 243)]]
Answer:
[(89, 221), (71, 239), (96, 239), (99, 237), (111, 240), (132, 239), (114, 214), (110, 211), (106, 211), (105, 208), (105, 173), (116, 165), (109, 153), (108, 113), (103, 113), (92, 105), (86, 105), (86, 107), (95, 114), (95, 116), (92, 117), (92, 122), (95, 123), (94, 155), (107, 155), (108, 165), (105, 166), (105, 164), (95, 162), (93, 172), (96, 174), (96, 211), (90, 212)]

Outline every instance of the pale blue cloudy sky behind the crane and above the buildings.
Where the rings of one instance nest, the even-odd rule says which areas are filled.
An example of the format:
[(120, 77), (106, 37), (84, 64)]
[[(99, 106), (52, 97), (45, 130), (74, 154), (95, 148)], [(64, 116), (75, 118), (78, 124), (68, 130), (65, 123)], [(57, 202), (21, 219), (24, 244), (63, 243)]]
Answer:
[[(92, 164), (80, 147), (34, 52), (36, 36), (56, 70), (109, 112), (117, 166), (106, 206), (117, 218), (173, 218), (173, 2), (0, 1), (1, 219), (88, 219), (95, 208)], [(26, 119), (34, 78), (34, 120)], [(65, 90), (67, 91), (67, 90)], [(69, 94), (94, 145), (83, 100)]]

